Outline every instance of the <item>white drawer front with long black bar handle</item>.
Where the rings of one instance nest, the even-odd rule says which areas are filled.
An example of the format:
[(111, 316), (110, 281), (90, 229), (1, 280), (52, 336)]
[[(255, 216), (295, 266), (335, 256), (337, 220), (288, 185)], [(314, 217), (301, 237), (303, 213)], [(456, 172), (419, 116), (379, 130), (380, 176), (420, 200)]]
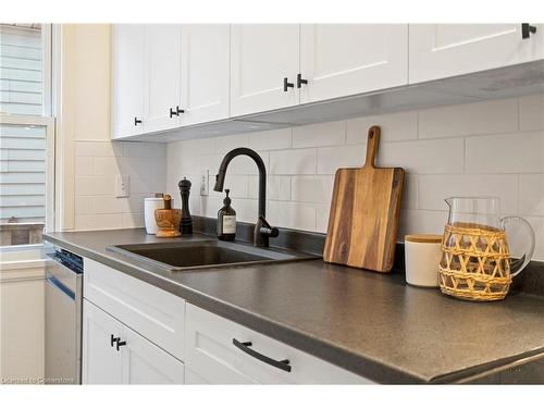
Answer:
[[(185, 366), (195, 383), (211, 384), (368, 384), (348, 372), (240, 324), (187, 304)], [(233, 344), (273, 360), (288, 360), (290, 372), (251, 356)], [(283, 364), (285, 367), (285, 364)]]

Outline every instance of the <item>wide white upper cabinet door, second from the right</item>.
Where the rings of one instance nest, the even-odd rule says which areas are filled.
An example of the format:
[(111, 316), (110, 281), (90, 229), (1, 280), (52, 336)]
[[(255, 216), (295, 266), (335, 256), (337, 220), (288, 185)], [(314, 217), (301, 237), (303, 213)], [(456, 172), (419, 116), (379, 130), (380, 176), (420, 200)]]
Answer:
[(408, 83), (407, 24), (305, 24), (300, 28), (300, 102)]

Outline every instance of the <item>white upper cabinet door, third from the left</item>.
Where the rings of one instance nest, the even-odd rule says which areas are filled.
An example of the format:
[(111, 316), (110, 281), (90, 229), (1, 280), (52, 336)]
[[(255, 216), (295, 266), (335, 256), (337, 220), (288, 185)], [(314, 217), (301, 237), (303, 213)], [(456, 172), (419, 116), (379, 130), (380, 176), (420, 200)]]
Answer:
[(182, 26), (182, 125), (228, 118), (230, 26)]

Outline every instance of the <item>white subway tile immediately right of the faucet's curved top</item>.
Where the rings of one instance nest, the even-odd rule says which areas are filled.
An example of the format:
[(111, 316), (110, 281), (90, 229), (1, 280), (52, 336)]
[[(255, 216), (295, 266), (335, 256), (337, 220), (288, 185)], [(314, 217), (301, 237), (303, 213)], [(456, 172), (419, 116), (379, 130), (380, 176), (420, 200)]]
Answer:
[(271, 151), (270, 174), (314, 174), (316, 160), (316, 149)]

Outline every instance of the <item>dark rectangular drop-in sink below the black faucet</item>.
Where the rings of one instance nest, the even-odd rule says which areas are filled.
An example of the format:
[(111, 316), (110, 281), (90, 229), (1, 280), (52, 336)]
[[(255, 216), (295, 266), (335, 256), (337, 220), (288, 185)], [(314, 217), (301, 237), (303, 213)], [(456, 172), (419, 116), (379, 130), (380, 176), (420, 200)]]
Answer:
[(316, 259), (317, 256), (221, 240), (115, 245), (108, 250), (170, 271)]

